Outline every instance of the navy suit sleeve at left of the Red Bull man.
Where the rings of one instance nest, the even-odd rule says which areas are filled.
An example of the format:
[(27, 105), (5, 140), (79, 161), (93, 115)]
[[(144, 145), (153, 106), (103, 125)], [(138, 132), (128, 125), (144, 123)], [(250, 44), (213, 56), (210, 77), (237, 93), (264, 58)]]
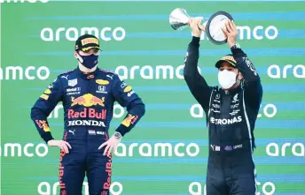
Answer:
[(41, 138), (46, 143), (53, 139), (47, 117), (61, 100), (62, 90), (58, 77), (57, 79), (54, 79), (50, 86), (48, 86), (31, 109), (31, 119), (33, 120)]

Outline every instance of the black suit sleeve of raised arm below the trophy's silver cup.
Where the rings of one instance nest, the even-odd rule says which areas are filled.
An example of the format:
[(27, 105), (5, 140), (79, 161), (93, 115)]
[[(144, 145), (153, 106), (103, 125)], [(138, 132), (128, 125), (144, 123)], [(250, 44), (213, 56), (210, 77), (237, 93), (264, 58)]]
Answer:
[(184, 79), (187, 86), (199, 102), (204, 110), (208, 110), (209, 98), (212, 92), (212, 87), (207, 85), (206, 79), (204, 79), (198, 71), (199, 60), (199, 37), (192, 37), (185, 59), (184, 59)]

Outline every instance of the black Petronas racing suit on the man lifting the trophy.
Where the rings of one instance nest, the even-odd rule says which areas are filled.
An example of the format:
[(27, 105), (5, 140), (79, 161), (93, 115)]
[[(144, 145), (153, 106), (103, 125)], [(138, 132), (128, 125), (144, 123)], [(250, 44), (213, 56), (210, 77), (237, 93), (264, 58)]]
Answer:
[(231, 52), (245, 79), (233, 90), (208, 86), (199, 74), (199, 38), (192, 38), (184, 60), (184, 79), (207, 116), (207, 195), (254, 195), (256, 191), (253, 131), (262, 85), (243, 50)]

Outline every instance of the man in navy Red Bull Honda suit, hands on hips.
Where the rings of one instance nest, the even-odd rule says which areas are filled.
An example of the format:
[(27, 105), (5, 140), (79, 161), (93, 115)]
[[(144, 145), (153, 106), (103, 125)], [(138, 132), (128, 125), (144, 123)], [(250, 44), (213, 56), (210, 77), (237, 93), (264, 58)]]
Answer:
[[(111, 151), (145, 115), (139, 96), (112, 71), (98, 69), (98, 38), (84, 34), (75, 43), (79, 65), (60, 74), (31, 109), (31, 118), (49, 146), (59, 146), (60, 195), (82, 195), (87, 173), (90, 195), (108, 195), (112, 176)], [(64, 135), (53, 139), (47, 117), (63, 102)], [(114, 101), (128, 114), (108, 139)]]

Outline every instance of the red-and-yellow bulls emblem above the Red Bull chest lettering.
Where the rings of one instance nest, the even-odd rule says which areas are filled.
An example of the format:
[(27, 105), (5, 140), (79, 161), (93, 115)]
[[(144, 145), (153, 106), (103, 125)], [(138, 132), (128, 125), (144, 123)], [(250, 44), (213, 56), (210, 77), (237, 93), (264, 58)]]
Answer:
[(80, 97), (74, 98), (71, 97), (71, 101), (72, 104), (71, 106), (74, 105), (82, 105), (84, 107), (91, 107), (91, 106), (105, 106), (104, 102), (105, 102), (105, 97), (102, 97), (101, 99), (99, 99), (98, 97), (92, 95), (92, 94), (84, 94)]

